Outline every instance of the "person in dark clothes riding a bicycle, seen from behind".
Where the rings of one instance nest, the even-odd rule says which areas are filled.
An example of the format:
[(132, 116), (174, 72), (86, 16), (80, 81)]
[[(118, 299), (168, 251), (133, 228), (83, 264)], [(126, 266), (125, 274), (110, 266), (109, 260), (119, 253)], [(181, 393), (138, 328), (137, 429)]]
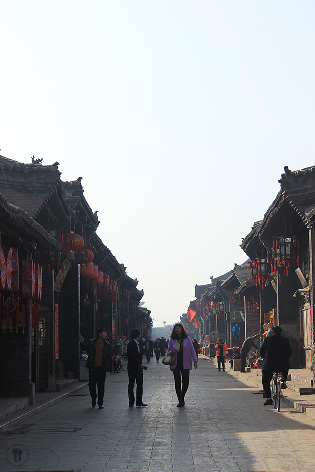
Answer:
[(262, 365), (262, 384), (267, 400), (264, 405), (272, 405), (270, 381), (274, 372), (282, 373), (283, 389), (287, 388), (286, 379), (290, 368), (289, 358), (292, 355), (292, 349), (287, 338), (281, 336), (280, 326), (272, 327), (272, 335), (266, 336), (260, 348), (260, 356), (264, 359)]

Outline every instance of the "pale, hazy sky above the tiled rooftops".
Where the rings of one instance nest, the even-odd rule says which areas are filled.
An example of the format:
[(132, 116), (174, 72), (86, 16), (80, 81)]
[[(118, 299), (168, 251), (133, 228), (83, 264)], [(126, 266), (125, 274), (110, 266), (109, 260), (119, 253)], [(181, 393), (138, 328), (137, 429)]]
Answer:
[(154, 326), (315, 165), (315, 3), (0, 0), (0, 154), (83, 177)]

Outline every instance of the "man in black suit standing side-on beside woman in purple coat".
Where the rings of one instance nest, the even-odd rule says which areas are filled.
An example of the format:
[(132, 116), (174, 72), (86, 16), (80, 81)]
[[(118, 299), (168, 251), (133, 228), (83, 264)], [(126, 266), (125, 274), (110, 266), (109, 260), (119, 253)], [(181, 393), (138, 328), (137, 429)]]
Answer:
[(128, 358), (128, 397), (129, 397), (129, 407), (133, 407), (134, 404), (134, 383), (137, 383), (137, 393), (136, 393), (136, 406), (137, 407), (147, 407), (146, 403), (142, 402), (143, 394), (143, 370), (147, 370), (147, 367), (142, 364), (142, 346), (139, 343), (141, 332), (139, 329), (134, 328), (131, 331), (132, 340), (128, 343), (127, 346), (127, 358)]

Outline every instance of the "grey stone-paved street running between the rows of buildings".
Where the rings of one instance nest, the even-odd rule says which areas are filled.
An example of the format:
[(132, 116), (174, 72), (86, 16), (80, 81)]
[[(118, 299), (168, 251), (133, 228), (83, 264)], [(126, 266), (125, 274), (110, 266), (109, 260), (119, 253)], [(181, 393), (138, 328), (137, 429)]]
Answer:
[(176, 408), (169, 368), (148, 367), (148, 408), (128, 408), (127, 372), (111, 376), (104, 410), (84, 387), (0, 434), (1, 472), (314, 472), (313, 419), (264, 407), (255, 387), (206, 358)]

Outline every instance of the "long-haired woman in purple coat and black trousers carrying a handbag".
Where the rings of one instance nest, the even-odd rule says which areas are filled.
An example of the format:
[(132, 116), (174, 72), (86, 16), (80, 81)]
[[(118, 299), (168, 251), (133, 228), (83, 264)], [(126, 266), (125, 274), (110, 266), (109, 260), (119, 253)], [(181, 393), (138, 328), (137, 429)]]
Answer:
[(168, 354), (174, 355), (176, 359), (175, 365), (171, 366), (174, 375), (175, 391), (178, 398), (178, 405), (176, 406), (183, 407), (185, 405), (185, 394), (189, 385), (189, 371), (192, 369), (191, 358), (193, 358), (195, 369), (198, 367), (198, 359), (193, 343), (190, 337), (185, 333), (183, 325), (180, 323), (174, 325), (168, 345)]

